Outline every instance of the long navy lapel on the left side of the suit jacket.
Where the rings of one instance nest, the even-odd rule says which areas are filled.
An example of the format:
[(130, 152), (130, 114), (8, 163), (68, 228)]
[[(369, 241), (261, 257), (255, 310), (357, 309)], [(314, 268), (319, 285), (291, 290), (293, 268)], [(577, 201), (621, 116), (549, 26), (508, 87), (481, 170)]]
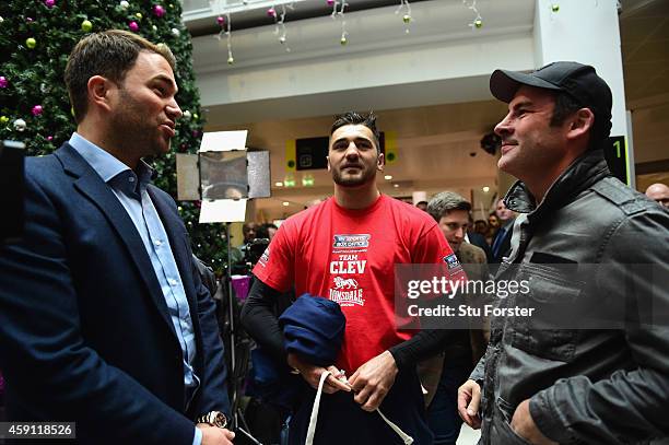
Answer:
[(75, 177), (74, 187), (104, 213), (120, 241), (126, 245), (128, 257), (137, 267), (139, 276), (146, 285), (149, 294), (157, 306), (162, 318), (176, 337), (167, 311), (167, 304), (165, 303), (165, 296), (155, 277), (153, 265), (146, 254), (144, 243), (134, 223), (128, 215), (128, 212), (119, 202), (118, 198), (116, 198), (111, 188), (103, 181), (93, 167), (91, 167), (70, 144), (63, 144), (63, 147), (56, 152), (56, 156), (62, 163), (63, 169)]

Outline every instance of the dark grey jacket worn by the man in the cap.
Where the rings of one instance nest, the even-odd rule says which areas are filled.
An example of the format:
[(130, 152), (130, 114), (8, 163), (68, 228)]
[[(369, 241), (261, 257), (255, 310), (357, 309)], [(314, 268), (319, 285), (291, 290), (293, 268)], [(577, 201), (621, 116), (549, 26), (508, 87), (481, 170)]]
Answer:
[[(600, 150), (576, 160), (539, 204), (521, 181), (505, 203), (523, 214), (495, 279), (527, 279), (529, 293), (500, 307), (578, 309), (564, 324), (543, 315), (492, 320), (471, 375), (482, 386), (480, 444), (527, 444), (509, 425), (526, 399), (540, 431), (561, 444), (669, 436), (669, 212), (611, 177)], [(589, 268), (567, 276), (564, 265)], [(659, 323), (627, 316), (612, 328), (575, 326), (611, 306), (649, 304)]]

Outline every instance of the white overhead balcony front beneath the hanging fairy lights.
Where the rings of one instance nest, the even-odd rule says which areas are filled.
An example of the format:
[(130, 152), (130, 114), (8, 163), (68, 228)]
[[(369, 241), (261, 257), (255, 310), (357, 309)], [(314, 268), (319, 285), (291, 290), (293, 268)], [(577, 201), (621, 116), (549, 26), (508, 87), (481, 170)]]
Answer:
[[(295, 9), (312, 3), (325, 1), (303, 0)], [(225, 63), (225, 38), (193, 39), (208, 121), (246, 124), (492, 99), (488, 75), (493, 67), (532, 67), (532, 5), (533, 0), (478, 0), (484, 25), (473, 30), (476, 15), (460, 0), (413, 2), (408, 34), (396, 4), (348, 13), (345, 46), (339, 45), (342, 20), (326, 12), (287, 23), (291, 52), (279, 44), (274, 26), (234, 31), (233, 14), (234, 65)]]

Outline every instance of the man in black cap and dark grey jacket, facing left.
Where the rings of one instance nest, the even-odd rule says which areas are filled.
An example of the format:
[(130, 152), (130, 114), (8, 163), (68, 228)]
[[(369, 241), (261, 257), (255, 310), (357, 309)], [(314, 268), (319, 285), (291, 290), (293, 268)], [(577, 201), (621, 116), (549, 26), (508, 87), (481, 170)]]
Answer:
[(536, 311), (492, 320), (460, 415), (482, 426), (481, 444), (666, 437), (669, 270), (657, 239), (669, 214), (607, 167), (609, 86), (592, 67), (555, 62), (496, 70), (490, 89), (509, 110), (495, 128), (498, 166), (520, 179), (505, 197), (519, 215), (496, 280), (529, 288), (497, 308)]

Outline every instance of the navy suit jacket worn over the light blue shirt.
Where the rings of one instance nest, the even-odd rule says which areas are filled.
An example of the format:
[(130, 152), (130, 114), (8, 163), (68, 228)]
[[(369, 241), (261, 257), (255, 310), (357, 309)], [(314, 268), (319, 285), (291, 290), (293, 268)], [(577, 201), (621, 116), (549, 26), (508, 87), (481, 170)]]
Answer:
[(134, 224), (69, 144), (26, 160), (23, 241), (0, 247), (7, 414), (75, 421), (81, 443), (191, 444), (195, 417), (228, 412), (214, 303), (174, 200), (149, 186), (184, 283), (201, 379), (186, 409), (183, 353)]

